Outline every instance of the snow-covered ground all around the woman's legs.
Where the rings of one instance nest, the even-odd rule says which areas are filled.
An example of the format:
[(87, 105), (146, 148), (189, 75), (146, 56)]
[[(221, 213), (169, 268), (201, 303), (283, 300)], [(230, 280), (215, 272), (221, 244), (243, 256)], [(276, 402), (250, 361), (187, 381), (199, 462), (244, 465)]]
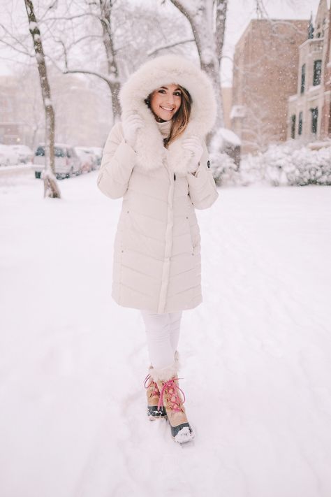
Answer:
[(145, 417), (137, 310), (110, 298), (121, 201), (0, 178), (1, 497), (330, 497), (331, 190), (221, 189), (179, 351), (196, 430)]

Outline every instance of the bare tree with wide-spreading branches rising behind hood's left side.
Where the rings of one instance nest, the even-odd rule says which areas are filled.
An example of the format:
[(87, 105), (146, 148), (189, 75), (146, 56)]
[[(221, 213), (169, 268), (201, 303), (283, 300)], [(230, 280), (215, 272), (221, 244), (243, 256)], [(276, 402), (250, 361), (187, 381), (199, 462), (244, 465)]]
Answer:
[[(71, 9), (70, 2), (68, 8)], [(146, 57), (194, 41), (186, 36), (187, 29), (180, 30), (178, 39), (182, 23), (173, 15), (163, 13), (164, 22), (156, 27), (154, 10), (142, 6), (119, 0), (85, 0), (79, 8), (78, 12), (76, 8), (64, 16), (45, 18), (54, 41), (61, 45), (61, 56), (52, 57), (52, 62), (64, 73), (82, 73), (103, 80), (110, 89), (114, 120), (120, 114), (121, 83)], [(84, 52), (83, 62), (81, 57), (75, 62), (77, 50)], [(64, 68), (59, 61), (64, 61)]]

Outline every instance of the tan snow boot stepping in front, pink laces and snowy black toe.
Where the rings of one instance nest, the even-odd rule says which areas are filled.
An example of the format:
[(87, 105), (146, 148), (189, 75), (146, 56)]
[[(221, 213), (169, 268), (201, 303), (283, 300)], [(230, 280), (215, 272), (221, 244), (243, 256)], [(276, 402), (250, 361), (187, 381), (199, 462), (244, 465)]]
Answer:
[[(157, 409), (165, 408), (170, 423), (171, 435), (175, 442), (189, 442), (194, 437), (186, 417), (184, 391), (179, 388), (177, 377), (179, 363), (175, 359), (168, 368), (150, 368), (150, 375), (159, 389)], [(182, 397), (183, 395), (183, 397)]]

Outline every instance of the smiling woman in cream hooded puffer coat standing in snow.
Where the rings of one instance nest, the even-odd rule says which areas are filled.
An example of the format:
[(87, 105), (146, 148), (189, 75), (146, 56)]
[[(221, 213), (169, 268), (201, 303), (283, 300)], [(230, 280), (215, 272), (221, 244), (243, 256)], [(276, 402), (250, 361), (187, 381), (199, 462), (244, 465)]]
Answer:
[(165, 55), (140, 66), (119, 99), (122, 122), (110, 131), (98, 174), (103, 194), (123, 197), (112, 297), (142, 312), (151, 361), (147, 413), (168, 417), (182, 443), (193, 431), (178, 384), (177, 344), (182, 311), (202, 302), (195, 208), (218, 196), (205, 145), (214, 92), (194, 64)]

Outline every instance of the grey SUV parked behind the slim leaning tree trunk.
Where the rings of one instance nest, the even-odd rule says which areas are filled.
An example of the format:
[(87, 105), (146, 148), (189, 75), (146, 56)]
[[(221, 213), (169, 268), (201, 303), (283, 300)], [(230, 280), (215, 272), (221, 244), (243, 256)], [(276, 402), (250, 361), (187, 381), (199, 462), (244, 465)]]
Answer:
[[(55, 143), (54, 155), (57, 179), (71, 178), (73, 175), (80, 174), (80, 159), (73, 147), (64, 143)], [(45, 144), (38, 145), (33, 162), (34, 174), (36, 178), (40, 178), (45, 169)]]

